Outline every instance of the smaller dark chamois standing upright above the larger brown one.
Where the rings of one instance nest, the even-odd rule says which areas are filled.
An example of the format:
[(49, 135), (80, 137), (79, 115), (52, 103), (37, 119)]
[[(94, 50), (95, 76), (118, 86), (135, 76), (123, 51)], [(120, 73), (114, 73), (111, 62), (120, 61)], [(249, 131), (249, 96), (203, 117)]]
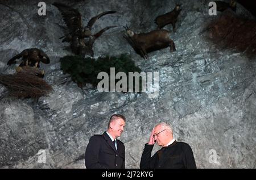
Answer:
[(155, 18), (155, 23), (158, 25), (158, 29), (163, 28), (167, 24), (172, 24), (172, 28), (174, 29), (174, 32), (176, 32), (176, 22), (177, 22), (177, 16), (180, 14), (180, 6), (176, 5), (174, 10), (171, 12), (167, 12), (166, 14), (157, 16)]

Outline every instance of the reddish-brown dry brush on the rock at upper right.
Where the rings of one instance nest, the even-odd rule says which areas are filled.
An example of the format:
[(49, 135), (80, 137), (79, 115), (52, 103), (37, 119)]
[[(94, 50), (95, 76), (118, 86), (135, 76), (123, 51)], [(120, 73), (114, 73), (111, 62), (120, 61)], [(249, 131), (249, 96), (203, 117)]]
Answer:
[(210, 22), (203, 33), (220, 49), (237, 49), (249, 58), (256, 57), (256, 22), (253, 20), (242, 19), (226, 10)]

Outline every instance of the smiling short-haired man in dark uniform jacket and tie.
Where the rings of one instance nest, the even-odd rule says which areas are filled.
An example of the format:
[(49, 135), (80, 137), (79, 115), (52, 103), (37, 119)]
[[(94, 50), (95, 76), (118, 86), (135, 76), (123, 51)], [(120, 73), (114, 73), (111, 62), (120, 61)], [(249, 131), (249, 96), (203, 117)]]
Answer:
[(125, 146), (117, 137), (125, 128), (125, 117), (114, 114), (109, 119), (108, 130), (102, 135), (94, 135), (85, 151), (86, 168), (121, 169), (125, 168)]

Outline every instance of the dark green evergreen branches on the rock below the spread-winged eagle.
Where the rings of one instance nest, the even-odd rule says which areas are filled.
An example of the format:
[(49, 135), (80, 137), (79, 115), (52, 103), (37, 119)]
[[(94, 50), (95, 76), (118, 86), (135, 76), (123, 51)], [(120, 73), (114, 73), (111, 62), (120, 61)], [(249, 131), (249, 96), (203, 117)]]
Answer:
[[(91, 57), (83, 58), (81, 56), (64, 56), (60, 58), (60, 62), (63, 72), (70, 74), (73, 81), (75, 81), (80, 87), (84, 86), (85, 83), (91, 83), (93, 87), (97, 87), (98, 82), (102, 80), (97, 79), (98, 73), (106, 72), (110, 77), (110, 68), (115, 68), (115, 74), (118, 72), (124, 72), (127, 75), (127, 87), (129, 87), (128, 73), (141, 73), (141, 69), (135, 66), (134, 61), (132, 61), (130, 56), (126, 54), (111, 57), (99, 57), (97, 60)], [(120, 79), (116, 79), (115, 83), (119, 80)]]

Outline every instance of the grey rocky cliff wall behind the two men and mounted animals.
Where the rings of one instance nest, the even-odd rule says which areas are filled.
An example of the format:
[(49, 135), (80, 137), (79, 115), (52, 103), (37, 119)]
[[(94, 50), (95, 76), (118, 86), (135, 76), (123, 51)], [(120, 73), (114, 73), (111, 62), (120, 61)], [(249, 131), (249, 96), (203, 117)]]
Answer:
[[(177, 51), (152, 52), (148, 60), (123, 38), (122, 26), (136, 32), (154, 30), (155, 17), (172, 10), (175, 1), (63, 1), (79, 9), (84, 25), (102, 11), (118, 11), (94, 24), (93, 32), (118, 26), (96, 40), (94, 55), (129, 53), (143, 72), (159, 72), (159, 96), (153, 99), (146, 93), (99, 93), (89, 86), (77, 87), (60, 70), (59, 58), (71, 55), (68, 44), (59, 40), (67, 32), (60, 12), (53, 1), (44, 1), (46, 16), (39, 16), (38, 2), (0, 4), (1, 72), (14, 73), (14, 66), (5, 70), (6, 62), (23, 49), (39, 48), (50, 57), (51, 63), (42, 68), (54, 89), (35, 102), (6, 98), (0, 85), (1, 168), (85, 168), (90, 136), (103, 133), (114, 113), (127, 118), (120, 138), (126, 146), (126, 168), (139, 168), (144, 144), (159, 122), (171, 123), (175, 138), (191, 145), (198, 168), (255, 168), (255, 49), (247, 56), (209, 40), (209, 32), (199, 35), (220, 16), (209, 16), (208, 1), (180, 1), (177, 32), (171, 32)], [(237, 15), (253, 19), (239, 4)], [(165, 28), (172, 31), (171, 25)], [(157, 149), (156, 145), (154, 152)]]

